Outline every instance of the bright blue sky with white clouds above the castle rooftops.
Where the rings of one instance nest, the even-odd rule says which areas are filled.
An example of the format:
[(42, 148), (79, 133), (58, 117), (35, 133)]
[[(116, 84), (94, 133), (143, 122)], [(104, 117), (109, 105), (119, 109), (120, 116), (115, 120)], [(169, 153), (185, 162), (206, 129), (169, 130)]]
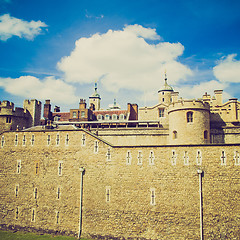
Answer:
[(101, 107), (240, 99), (239, 0), (0, 0), (0, 101), (78, 108), (98, 84)]

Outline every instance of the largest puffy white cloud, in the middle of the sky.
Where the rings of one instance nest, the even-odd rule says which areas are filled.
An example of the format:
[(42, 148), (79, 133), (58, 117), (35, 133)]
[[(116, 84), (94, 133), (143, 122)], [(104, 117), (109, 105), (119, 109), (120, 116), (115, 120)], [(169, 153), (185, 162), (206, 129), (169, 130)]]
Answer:
[(192, 74), (177, 60), (184, 51), (182, 44), (147, 42), (160, 39), (155, 29), (140, 25), (97, 33), (77, 40), (75, 49), (61, 59), (58, 68), (68, 82), (84, 84), (101, 79), (108, 91), (158, 90), (163, 85), (165, 69), (170, 84)]

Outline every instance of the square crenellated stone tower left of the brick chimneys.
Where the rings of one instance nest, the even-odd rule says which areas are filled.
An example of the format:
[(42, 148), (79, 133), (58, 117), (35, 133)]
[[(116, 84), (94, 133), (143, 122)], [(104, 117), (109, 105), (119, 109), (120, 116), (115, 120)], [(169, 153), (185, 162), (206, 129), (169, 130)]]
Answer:
[(28, 110), (32, 117), (30, 126), (40, 125), (42, 103), (36, 99), (24, 100), (23, 108)]

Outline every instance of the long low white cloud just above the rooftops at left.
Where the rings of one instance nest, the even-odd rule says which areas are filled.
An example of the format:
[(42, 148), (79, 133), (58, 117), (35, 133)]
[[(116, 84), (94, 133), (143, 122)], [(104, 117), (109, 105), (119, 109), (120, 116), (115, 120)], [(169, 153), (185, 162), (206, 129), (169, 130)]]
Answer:
[(51, 99), (56, 103), (69, 104), (77, 101), (75, 88), (54, 77), (46, 77), (42, 81), (33, 76), (0, 78), (0, 87), (10, 94), (24, 98)]

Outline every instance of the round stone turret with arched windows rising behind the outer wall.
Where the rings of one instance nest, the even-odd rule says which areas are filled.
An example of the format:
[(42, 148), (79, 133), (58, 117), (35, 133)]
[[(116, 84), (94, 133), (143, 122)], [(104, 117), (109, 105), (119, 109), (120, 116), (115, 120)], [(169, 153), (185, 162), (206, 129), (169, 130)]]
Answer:
[(210, 106), (200, 100), (170, 104), (169, 143), (204, 144), (210, 142)]

